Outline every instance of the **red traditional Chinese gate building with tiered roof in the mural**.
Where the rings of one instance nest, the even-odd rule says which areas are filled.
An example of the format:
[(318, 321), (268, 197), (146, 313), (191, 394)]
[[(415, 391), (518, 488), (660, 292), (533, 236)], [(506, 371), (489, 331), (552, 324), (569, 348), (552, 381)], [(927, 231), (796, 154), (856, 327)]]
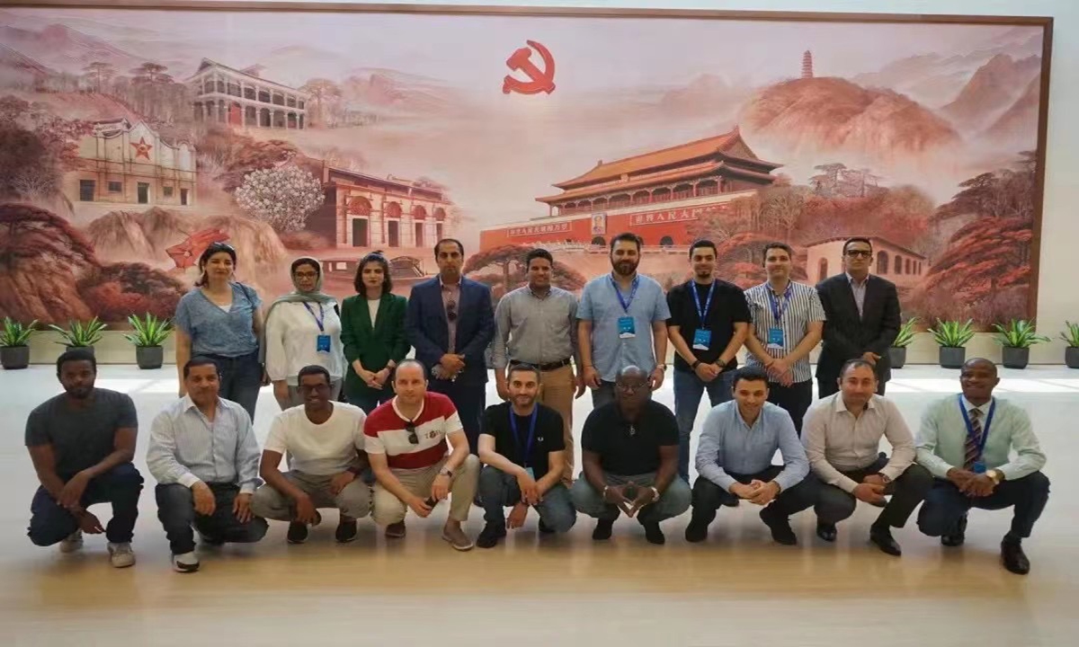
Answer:
[(738, 128), (616, 162), (558, 182), (558, 195), (537, 197), (548, 216), (487, 228), (480, 248), (537, 243), (606, 245), (629, 231), (645, 245), (686, 245), (687, 228), (706, 214), (729, 209), (775, 181), (779, 164), (757, 157)]

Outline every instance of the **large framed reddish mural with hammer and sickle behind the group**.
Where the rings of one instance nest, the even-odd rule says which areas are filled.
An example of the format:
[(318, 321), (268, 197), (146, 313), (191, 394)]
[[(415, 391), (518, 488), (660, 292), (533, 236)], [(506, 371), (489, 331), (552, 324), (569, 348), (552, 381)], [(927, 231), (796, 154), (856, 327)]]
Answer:
[[(284, 13), (305, 15), (303, 45), (259, 47), (206, 19), (243, 15), (281, 36)], [(667, 286), (684, 277), (696, 237), (715, 239), (720, 276), (746, 287), (762, 279), (764, 240), (791, 242), (796, 277), (814, 283), (841, 271), (846, 236), (864, 234), (907, 315), (984, 329), (1037, 313), (1051, 17), (175, 0), (45, 0), (0, 14), (11, 18), (0, 138), (35, 161), (0, 166), (0, 315), (167, 316), (200, 250), (226, 238), (242, 250), (240, 278), (264, 297), (287, 291), (287, 276), (267, 277), (301, 251), (323, 260), (329, 291), (351, 293), (356, 260), (377, 248), (394, 252), (407, 293), (448, 235), (478, 248), (465, 270), (496, 298), (524, 280), (532, 246), (550, 248), (556, 280), (579, 289), (626, 230), (644, 240), (642, 271)], [(358, 54), (334, 52), (336, 31), (326, 51), (306, 46), (318, 25), (332, 30), (326, 14), (386, 29), (365, 32), (374, 46)], [(542, 36), (520, 29), (533, 18)], [(461, 20), (461, 41), (440, 54), (379, 35), (413, 20), (432, 49), (447, 19)], [(597, 60), (574, 29), (599, 19), (617, 23), (591, 40), (617, 50), (629, 39), (647, 56)], [(634, 31), (642, 20), (656, 23)], [(706, 46), (757, 37), (787, 56), (775, 35), (792, 24), (807, 44), (789, 69), (732, 69), (728, 52)], [(204, 45), (252, 65), (191, 53)], [(350, 56), (379, 65), (352, 69)], [(664, 77), (682, 67), (695, 75)], [(411, 142), (426, 166), (395, 152)], [(592, 165), (597, 155), (615, 161)], [(483, 176), (501, 181), (469, 188)], [(273, 193), (283, 185), (287, 199)]]

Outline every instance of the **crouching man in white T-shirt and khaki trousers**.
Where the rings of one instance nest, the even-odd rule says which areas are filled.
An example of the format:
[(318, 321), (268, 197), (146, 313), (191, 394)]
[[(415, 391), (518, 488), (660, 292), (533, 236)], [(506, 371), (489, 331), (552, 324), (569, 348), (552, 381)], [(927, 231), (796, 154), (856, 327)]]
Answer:
[[(304, 367), (299, 374), (303, 407), (286, 409), (270, 427), (260, 473), (265, 485), (251, 500), (251, 511), (287, 521), (288, 542), (308, 540), (308, 526), (318, 525), (317, 508), (337, 508), (337, 540), (356, 538), (356, 520), (371, 510), (371, 490), (358, 477), (368, 467), (364, 452), (364, 410), (331, 402), (329, 371)], [(278, 469), (288, 454), (289, 471)]]

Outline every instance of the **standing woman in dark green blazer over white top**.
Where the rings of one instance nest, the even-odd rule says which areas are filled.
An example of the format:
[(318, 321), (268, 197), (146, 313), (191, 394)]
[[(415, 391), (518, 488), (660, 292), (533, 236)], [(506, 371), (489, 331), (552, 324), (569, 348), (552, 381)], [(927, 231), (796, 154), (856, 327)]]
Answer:
[(349, 373), (344, 396), (367, 413), (394, 397), (394, 368), (408, 355), (404, 297), (393, 293), (390, 263), (382, 252), (365, 256), (353, 281), (356, 294), (341, 307), (341, 340)]

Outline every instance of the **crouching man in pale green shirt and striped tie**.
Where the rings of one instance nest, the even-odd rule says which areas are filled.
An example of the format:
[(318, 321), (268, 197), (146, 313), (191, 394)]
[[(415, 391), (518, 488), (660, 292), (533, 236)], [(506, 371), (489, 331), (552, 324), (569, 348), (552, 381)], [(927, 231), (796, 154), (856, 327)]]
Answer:
[(1040, 471), (1046, 454), (1026, 412), (993, 397), (999, 383), (996, 364), (970, 359), (959, 373), (962, 395), (939, 400), (923, 415), (918, 463), (937, 480), (921, 505), (918, 528), (940, 537), (944, 546), (958, 547), (966, 539), (971, 508), (1014, 507), (1000, 559), (1008, 570), (1026, 575), (1030, 561), (1022, 540), (1030, 536), (1049, 500), (1049, 479)]

